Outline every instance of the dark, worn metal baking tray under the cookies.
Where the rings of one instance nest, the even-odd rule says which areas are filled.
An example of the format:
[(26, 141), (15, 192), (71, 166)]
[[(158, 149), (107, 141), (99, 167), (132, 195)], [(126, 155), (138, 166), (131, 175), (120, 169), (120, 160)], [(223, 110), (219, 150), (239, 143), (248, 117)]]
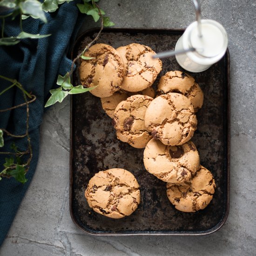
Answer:
[[(82, 46), (99, 31), (82, 34), (73, 48), (77, 56)], [(113, 47), (140, 43), (155, 52), (174, 49), (183, 29), (105, 28), (97, 43)], [(160, 76), (182, 70), (175, 58), (162, 60)], [(78, 64), (79, 65), (79, 64)], [(186, 71), (187, 72), (187, 71)], [(197, 130), (192, 138), (201, 164), (216, 181), (216, 193), (209, 206), (195, 213), (178, 211), (166, 195), (166, 183), (149, 174), (143, 166), (143, 149), (116, 139), (111, 118), (101, 108), (99, 98), (90, 93), (72, 95), (70, 119), (70, 214), (74, 223), (92, 235), (203, 235), (220, 229), (229, 213), (229, 52), (202, 73), (190, 73), (204, 92), (204, 104), (196, 114)], [(79, 84), (77, 73), (73, 76)], [(141, 203), (130, 216), (110, 219), (89, 208), (84, 191), (89, 179), (109, 168), (132, 172), (141, 187)]]

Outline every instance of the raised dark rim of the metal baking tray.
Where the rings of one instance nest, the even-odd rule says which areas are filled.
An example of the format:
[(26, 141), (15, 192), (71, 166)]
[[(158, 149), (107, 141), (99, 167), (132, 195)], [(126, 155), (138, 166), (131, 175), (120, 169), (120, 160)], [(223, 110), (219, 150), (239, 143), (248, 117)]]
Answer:
[[(73, 60), (74, 58), (74, 47), (77, 45), (77, 42), (81, 40), (82, 37), (84, 37), (86, 34), (91, 33), (91, 32), (97, 32), (100, 27), (93, 27), (90, 28), (83, 33), (81, 33), (76, 40), (74, 41), (74, 44), (72, 46), (72, 52), (71, 52), (71, 59)], [(122, 33), (122, 32), (127, 32), (129, 33), (130, 31), (137, 32), (137, 33), (143, 33), (143, 32), (170, 32), (170, 33), (177, 33), (181, 34), (182, 32), (185, 31), (184, 28), (155, 28), (155, 27), (111, 27), (111, 28), (103, 28), (102, 32), (116, 32), (116, 33)], [(227, 51), (225, 53), (226, 55), (226, 86), (227, 86), (227, 94), (226, 94), (226, 130), (227, 130), (227, 135), (226, 135), (226, 157), (227, 157), (227, 183), (225, 186), (225, 189), (227, 191), (227, 201), (226, 201), (226, 212), (225, 215), (222, 217), (220, 222), (217, 223), (216, 226), (212, 227), (211, 229), (207, 229), (205, 231), (199, 231), (199, 232), (188, 232), (188, 231), (130, 231), (133, 233), (125, 233), (125, 232), (120, 232), (120, 233), (112, 233), (108, 231), (91, 231), (89, 229), (85, 229), (81, 227), (79, 222), (74, 216), (73, 212), (73, 168), (72, 168), (72, 160), (73, 160), (73, 95), (71, 94), (70, 97), (70, 153), (69, 153), (69, 213), (71, 216), (72, 221), (74, 224), (81, 229), (85, 234), (89, 234), (92, 236), (202, 236), (202, 235), (209, 235), (217, 230), (221, 229), (224, 223), (227, 221), (227, 218), (229, 216), (229, 197), (230, 197), (230, 54), (229, 54), (229, 48), (227, 48)], [(73, 76), (72, 76), (73, 80)], [(127, 231), (128, 232), (128, 231)]]

